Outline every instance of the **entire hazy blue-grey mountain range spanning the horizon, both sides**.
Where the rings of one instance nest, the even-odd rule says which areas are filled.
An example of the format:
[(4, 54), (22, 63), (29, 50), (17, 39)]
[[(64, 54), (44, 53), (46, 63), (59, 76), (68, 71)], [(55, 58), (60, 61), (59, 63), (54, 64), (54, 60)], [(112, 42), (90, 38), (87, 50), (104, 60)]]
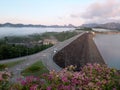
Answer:
[[(12, 23), (4, 23), (0, 24), (0, 27), (44, 27), (44, 28), (75, 28), (76, 26), (69, 24), (69, 25), (33, 25), (33, 24), (12, 24)], [(87, 28), (102, 28), (102, 29), (110, 29), (110, 30), (120, 30), (120, 23), (105, 23), (105, 24), (97, 24), (97, 23), (90, 23), (90, 24), (83, 24), (80, 27), (87, 27)]]

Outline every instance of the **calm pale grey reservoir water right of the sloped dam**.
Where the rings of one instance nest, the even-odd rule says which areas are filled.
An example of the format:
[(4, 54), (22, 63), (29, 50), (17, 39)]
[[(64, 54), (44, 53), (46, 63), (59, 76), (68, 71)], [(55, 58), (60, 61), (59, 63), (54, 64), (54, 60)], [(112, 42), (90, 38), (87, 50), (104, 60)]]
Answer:
[(120, 70), (120, 34), (96, 35), (94, 41), (109, 67)]

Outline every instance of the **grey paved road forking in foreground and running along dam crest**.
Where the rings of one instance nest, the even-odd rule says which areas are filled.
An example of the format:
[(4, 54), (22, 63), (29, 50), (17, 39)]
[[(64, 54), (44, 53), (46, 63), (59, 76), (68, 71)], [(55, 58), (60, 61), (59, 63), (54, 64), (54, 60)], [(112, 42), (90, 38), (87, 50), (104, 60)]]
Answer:
[(53, 47), (48, 48), (44, 51), (41, 51), (37, 54), (20, 57), (20, 58), (15, 58), (15, 59), (1, 60), (0, 63), (19, 61), (19, 60), (23, 60), (23, 59), (25, 60), (24, 62), (12, 67), (12, 68), (9, 68), (9, 71), (11, 71), (13, 73), (13, 78), (11, 79), (11, 81), (13, 81), (13, 82), (15, 82), (17, 80), (17, 78), (21, 77), (20, 73), (22, 70), (24, 70), (25, 68), (27, 68), (28, 66), (32, 65), (33, 63), (35, 63), (39, 60), (41, 60), (43, 62), (43, 64), (47, 67), (48, 70), (59, 71), (59, 70), (61, 70), (61, 68), (57, 64), (55, 64), (53, 61), (53, 56), (56, 53), (55, 49), (57, 49), (57, 51), (61, 50), (62, 48), (69, 45), (72, 41), (74, 41), (75, 39), (77, 39), (78, 37), (80, 37), (83, 34), (84, 33), (81, 33), (79, 35), (76, 35), (76, 36), (68, 39), (68, 40), (65, 40), (64, 42), (57, 43)]

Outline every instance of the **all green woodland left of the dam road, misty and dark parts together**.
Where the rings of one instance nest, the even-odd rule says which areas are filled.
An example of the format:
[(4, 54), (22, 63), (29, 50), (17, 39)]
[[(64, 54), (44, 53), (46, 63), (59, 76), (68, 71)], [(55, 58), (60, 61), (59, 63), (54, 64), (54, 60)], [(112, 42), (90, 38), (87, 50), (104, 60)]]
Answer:
[(25, 42), (31, 42), (31, 41), (39, 41), (43, 40), (45, 38), (55, 37), (58, 41), (64, 41), (66, 39), (69, 39), (73, 36), (75, 36), (77, 32), (46, 32), (43, 34), (34, 34), (29, 36), (10, 36), (5, 37), (4, 39), (0, 40), (0, 60), (2, 59), (10, 59), (10, 58), (16, 58), (21, 57), (25, 55), (30, 55), (33, 53), (37, 53), (39, 51), (42, 51), (46, 48), (51, 47), (52, 45), (41, 45), (41, 46), (34, 46), (34, 47), (27, 47), (23, 45), (11, 45), (7, 43), (25, 43)]

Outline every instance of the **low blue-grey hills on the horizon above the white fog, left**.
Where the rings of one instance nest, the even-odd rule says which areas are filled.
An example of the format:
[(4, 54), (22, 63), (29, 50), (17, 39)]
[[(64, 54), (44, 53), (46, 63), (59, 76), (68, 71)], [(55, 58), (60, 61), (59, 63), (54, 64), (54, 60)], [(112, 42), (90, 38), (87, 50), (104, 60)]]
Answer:
[(50, 26), (47, 26), (47, 25), (33, 25), (33, 24), (12, 24), (12, 23), (5, 23), (5, 24), (0, 24), (0, 27), (51, 27), (51, 28), (74, 28), (75, 26), (72, 25), (72, 24), (69, 24), (69, 25), (64, 25), (64, 26), (61, 26), (61, 25), (50, 25)]

